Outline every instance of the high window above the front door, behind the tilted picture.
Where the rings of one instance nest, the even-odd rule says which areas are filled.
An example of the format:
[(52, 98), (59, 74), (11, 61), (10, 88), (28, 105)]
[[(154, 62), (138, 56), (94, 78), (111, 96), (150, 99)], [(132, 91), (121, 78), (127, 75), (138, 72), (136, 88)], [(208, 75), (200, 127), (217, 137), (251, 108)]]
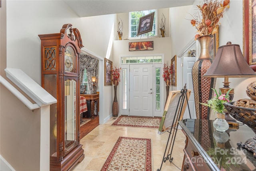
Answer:
[[(137, 35), (137, 31), (139, 28), (139, 22), (140, 22), (140, 18), (143, 16), (146, 16), (152, 12), (155, 12), (154, 15), (154, 22), (153, 22), (153, 28), (152, 28), (152, 32), (148, 32), (139, 36)], [(134, 12), (130, 12), (130, 23), (129, 23), (129, 37), (130, 38), (134, 38), (134, 37), (144, 37), (144, 36), (156, 36), (157, 35), (157, 12), (156, 10), (144, 10), (144, 11), (134, 11)]]

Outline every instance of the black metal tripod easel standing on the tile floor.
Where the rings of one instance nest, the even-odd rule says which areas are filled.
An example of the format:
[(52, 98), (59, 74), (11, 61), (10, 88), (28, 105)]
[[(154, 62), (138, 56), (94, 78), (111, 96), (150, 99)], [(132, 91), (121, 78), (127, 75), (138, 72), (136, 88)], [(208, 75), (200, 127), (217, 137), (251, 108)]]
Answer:
[[(177, 123), (177, 124), (174, 127), (171, 127), (170, 132), (168, 131), (170, 134), (169, 134), (169, 137), (168, 137), (168, 140), (167, 140), (167, 143), (166, 143), (166, 148), (165, 148), (165, 151), (164, 151), (164, 156), (165, 156), (167, 148), (168, 148), (170, 136), (172, 134), (172, 139), (171, 139), (171, 142), (170, 142), (170, 146), (168, 148), (168, 155), (166, 157), (163, 157), (161, 167), (160, 167), (160, 169), (157, 169), (157, 171), (161, 171), (163, 163), (165, 163), (167, 160), (169, 160), (170, 163), (172, 163), (172, 160), (173, 160), (172, 150), (173, 150), (174, 141), (175, 141), (175, 138), (176, 138), (176, 133), (177, 133), (177, 130), (178, 130), (178, 125), (179, 125), (178, 121), (180, 121), (182, 119), (182, 118), (180, 118), (180, 116), (181, 116), (181, 112), (182, 112), (182, 109), (183, 109), (183, 106), (184, 106), (185, 97), (186, 97), (186, 102), (187, 102), (187, 105), (188, 105), (186, 84), (185, 84), (184, 88), (181, 89), (180, 93), (181, 93), (181, 95), (180, 95), (178, 105), (176, 107), (176, 111), (175, 111), (175, 114), (174, 114), (174, 118), (176, 118), (176, 119), (173, 119), (173, 121), (172, 121), (172, 125), (174, 125), (174, 123)], [(191, 119), (189, 105), (188, 105), (188, 112), (189, 112), (189, 116), (190, 116), (190, 119)], [(176, 117), (176, 115), (177, 115), (177, 117)], [(172, 149), (170, 150), (171, 147), (172, 147)]]

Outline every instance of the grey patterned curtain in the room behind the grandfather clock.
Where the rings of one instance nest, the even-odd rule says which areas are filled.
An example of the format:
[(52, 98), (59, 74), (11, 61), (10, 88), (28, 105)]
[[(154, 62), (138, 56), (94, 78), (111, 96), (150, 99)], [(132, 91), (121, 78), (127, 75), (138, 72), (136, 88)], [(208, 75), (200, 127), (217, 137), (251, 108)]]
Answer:
[[(92, 86), (92, 76), (96, 76), (95, 90), (98, 89), (98, 61), (96, 58), (93, 58), (89, 55), (80, 54), (80, 91), (84, 89), (82, 85), (82, 80), (84, 78), (84, 69), (87, 72), (87, 80), (88, 80), (88, 89), (90, 92), (93, 92)], [(81, 89), (82, 86), (82, 89)]]

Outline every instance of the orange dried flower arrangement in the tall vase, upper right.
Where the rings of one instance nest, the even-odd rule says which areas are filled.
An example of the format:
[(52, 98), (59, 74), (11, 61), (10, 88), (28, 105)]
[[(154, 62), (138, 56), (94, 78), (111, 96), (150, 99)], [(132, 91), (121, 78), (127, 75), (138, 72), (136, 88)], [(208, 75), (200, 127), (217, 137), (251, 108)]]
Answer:
[(196, 34), (195, 38), (204, 35), (213, 35), (217, 32), (216, 26), (219, 25), (220, 18), (223, 17), (223, 13), (226, 9), (229, 8), (230, 0), (204, 0), (203, 4), (197, 5), (199, 9), (202, 19), (198, 13), (194, 15), (190, 23), (192, 26), (195, 26), (198, 34)]

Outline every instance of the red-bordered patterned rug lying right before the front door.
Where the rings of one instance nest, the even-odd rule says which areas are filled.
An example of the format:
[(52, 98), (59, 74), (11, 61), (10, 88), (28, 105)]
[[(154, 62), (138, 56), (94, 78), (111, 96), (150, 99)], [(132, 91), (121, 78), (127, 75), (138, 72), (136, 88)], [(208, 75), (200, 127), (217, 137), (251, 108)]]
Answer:
[(112, 125), (158, 129), (161, 119), (161, 117), (119, 116)]

